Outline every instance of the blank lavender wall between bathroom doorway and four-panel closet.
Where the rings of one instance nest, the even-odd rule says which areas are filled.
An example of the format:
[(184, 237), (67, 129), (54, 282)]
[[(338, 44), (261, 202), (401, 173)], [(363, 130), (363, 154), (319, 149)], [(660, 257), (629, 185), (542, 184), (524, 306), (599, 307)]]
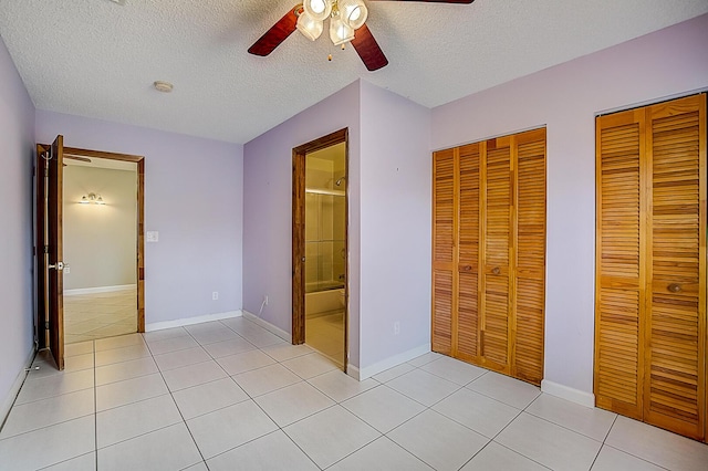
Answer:
[(430, 349), (430, 109), (364, 81), (361, 102), (361, 376), (367, 377), (407, 352)]

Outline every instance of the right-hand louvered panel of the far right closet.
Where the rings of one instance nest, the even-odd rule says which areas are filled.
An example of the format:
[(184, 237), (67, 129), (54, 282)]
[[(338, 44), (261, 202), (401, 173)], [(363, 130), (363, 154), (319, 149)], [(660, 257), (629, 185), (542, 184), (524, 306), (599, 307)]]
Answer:
[(647, 109), (646, 161), (652, 211), (644, 416), (647, 422), (698, 439), (706, 407), (702, 97)]

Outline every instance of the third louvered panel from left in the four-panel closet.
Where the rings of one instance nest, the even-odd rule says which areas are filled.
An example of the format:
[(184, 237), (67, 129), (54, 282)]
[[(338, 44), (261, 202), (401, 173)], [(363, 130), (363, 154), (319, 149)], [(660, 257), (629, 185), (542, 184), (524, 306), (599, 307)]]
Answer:
[(509, 251), (511, 238), (511, 137), (483, 143), (481, 187), (483, 260), (481, 363), (509, 373)]

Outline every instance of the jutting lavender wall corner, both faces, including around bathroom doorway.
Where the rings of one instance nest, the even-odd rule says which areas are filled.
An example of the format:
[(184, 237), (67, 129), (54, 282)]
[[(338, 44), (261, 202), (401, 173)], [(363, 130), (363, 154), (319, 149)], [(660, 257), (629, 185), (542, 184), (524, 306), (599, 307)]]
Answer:
[(243, 307), (258, 313), (268, 295), (261, 317), (291, 332), (292, 148), (343, 127), (350, 129), (348, 363), (365, 377), (407, 352), (429, 349), (429, 109), (358, 81), (246, 145)]

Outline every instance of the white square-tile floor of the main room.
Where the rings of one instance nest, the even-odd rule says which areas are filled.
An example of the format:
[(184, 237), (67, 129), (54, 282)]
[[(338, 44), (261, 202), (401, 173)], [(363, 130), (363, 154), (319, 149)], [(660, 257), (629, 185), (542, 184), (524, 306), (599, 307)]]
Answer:
[(708, 446), (426, 354), (356, 381), (246, 318), (35, 359), (0, 469), (701, 470)]

